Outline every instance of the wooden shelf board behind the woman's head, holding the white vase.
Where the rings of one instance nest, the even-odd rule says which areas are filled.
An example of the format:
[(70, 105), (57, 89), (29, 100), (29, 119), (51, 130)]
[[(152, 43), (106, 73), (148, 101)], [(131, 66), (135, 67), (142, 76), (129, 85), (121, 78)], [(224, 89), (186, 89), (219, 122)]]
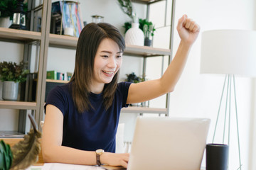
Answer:
[[(78, 38), (66, 35), (50, 34), (49, 41), (51, 47), (68, 47), (76, 49)], [(171, 55), (171, 50), (139, 45), (127, 45), (126, 49), (124, 50), (124, 55), (140, 57)]]

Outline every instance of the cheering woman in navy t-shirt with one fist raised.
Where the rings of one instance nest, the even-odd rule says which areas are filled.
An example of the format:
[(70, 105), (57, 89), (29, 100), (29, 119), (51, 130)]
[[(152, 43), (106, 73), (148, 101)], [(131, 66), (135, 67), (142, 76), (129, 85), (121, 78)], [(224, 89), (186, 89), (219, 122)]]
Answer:
[(200, 28), (184, 15), (178, 20), (177, 30), (180, 45), (160, 79), (117, 84), (124, 38), (107, 23), (85, 26), (78, 39), (70, 83), (56, 87), (48, 95), (42, 141), (44, 161), (127, 167), (129, 154), (114, 153), (120, 110), (129, 103), (174, 91)]

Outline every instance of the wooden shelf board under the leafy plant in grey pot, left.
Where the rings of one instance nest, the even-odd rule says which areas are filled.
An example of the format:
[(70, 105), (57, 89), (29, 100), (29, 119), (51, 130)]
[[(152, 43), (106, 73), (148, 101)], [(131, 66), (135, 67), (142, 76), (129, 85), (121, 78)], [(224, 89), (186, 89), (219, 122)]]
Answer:
[(0, 101), (0, 108), (36, 110), (36, 102)]

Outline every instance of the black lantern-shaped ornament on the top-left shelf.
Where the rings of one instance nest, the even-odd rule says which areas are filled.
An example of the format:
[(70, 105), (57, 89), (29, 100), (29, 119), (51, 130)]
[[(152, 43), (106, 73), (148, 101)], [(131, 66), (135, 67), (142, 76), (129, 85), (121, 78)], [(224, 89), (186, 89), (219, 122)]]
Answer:
[(26, 13), (23, 11), (23, 1), (17, 0), (17, 7), (14, 10), (13, 21), (9, 28), (26, 30)]

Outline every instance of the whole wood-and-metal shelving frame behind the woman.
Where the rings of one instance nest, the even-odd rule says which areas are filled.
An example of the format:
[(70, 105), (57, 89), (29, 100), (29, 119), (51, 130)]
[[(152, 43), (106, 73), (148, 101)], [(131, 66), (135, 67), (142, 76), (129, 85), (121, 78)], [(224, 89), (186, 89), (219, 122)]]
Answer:
[[(135, 3), (149, 5), (157, 1), (166, 1), (166, 0), (136, 0)], [(172, 9), (172, 18), (174, 18), (174, 2)], [(30, 30), (14, 30), (9, 28), (0, 28), (0, 41), (5, 42), (15, 42), (15, 43), (33, 43), (40, 42), (40, 51), (38, 58), (38, 81), (37, 81), (37, 90), (36, 90), (36, 102), (28, 101), (0, 101), (0, 108), (7, 109), (21, 109), (21, 110), (33, 110), (33, 115), (36, 119), (38, 125), (40, 121), (43, 120), (43, 106), (45, 104), (45, 94), (46, 94), (46, 82), (59, 82), (67, 83), (68, 81), (53, 81), (46, 79), (47, 72), (47, 59), (48, 59), (48, 47), (59, 47), (59, 48), (68, 48), (76, 49), (78, 38), (70, 37), (66, 35), (55, 35), (50, 34), (50, 14), (51, 14), (51, 1), (43, 0), (42, 8), (42, 24), (41, 24), (41, 33), (30, 31)], [(173, 37), (173, 26), (174, 20), (171, 21), (171, 37)], [(170, 40), (169, 49), (162, 49), (156, 47), (146, 47), (146, 46), (137, 46), (137, 45), (127, 45), (124, 50), (124, 55), (132, 57), (142, 57), (144, 59), (144, 69), (147, 57), (156, 57), (156, 56), (169, 56), (169, 62), (171, 62), (172, 54), (172, 40)], [(148, 107), (135, 107), (129, 106), (128, 108), (123, 108), (122, 113), (160, 113), (169, 115), (169, 95), (166, 97), (166, 108), (148, 108)]]

